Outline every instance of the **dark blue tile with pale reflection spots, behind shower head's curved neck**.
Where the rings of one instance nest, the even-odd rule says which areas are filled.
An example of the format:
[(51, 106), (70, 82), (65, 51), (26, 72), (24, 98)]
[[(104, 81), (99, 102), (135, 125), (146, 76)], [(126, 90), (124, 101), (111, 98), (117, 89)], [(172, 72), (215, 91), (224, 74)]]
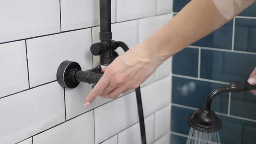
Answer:
[[(193, 79), (172, 78), (172, 103), (194, 108), (203, 108), (207, 96), (223, 84), (203, 82)], [(229, 93), (223, 93), (213, 99), (211, 109), (226, 113), (228, 111)]]

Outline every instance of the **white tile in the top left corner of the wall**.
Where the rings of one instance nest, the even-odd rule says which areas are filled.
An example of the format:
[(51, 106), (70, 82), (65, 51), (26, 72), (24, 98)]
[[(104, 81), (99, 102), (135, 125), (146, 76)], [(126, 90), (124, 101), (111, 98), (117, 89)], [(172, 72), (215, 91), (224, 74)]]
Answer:
[(1, 0), (0, 43), (60, 32), (59, 0)]

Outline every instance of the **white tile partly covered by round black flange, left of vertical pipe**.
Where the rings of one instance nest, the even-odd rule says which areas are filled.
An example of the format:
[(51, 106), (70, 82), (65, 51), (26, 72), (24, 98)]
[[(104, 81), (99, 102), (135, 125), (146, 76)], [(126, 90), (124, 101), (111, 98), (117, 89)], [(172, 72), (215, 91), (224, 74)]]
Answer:
[(91, 29), (82, 29), (27, 40), (30, 86), (54, 81), (64, 60), (78, 62), (83, 70), (92, 69), (91, 33)]

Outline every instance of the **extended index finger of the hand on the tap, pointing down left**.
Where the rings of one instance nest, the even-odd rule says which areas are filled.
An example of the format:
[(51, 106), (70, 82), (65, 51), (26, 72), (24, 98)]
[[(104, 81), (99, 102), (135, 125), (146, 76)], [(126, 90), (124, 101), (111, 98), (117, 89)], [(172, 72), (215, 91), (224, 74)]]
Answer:
[(92, 101), (102, 93), (105, 88), (109, 85), (109, 79), (107, 75), (103, 75), (102, 78), (98, 81), (94, 88), (92, 88), (91, 92), (85, 98), (85, 106), (89, 106)]

